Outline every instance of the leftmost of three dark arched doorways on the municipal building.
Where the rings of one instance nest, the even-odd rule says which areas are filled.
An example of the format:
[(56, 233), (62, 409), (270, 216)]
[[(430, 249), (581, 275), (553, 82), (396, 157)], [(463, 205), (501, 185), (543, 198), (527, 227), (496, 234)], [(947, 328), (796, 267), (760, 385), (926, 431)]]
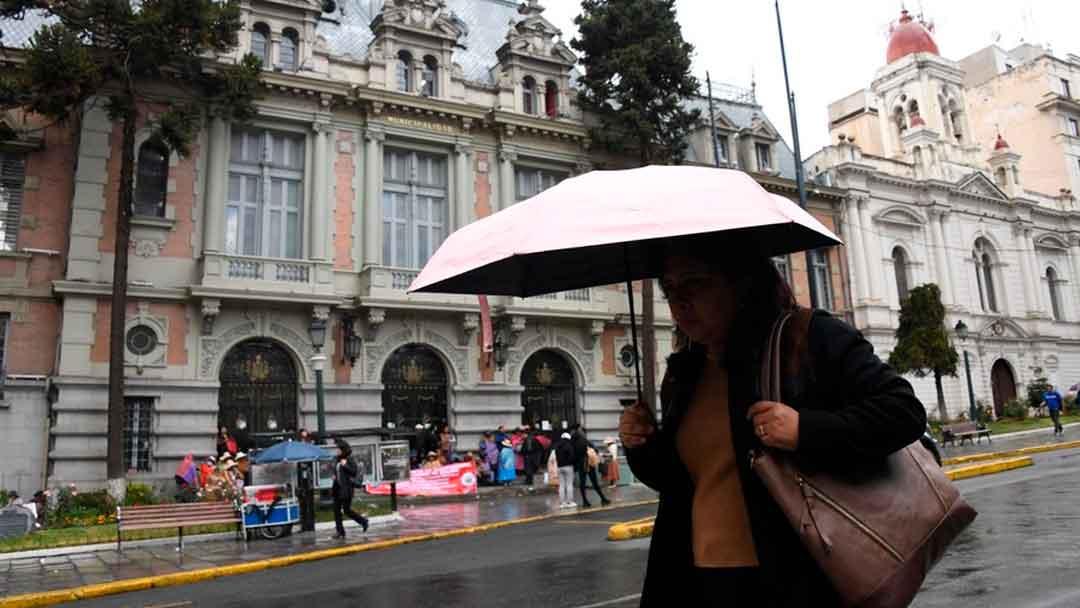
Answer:
[(297, 428), (296, 365), (273, 340), (255, 338), (232, 347), (225, 356), (218, 391), (217, 425), (229, 429), (241, 447), (251, 433)]

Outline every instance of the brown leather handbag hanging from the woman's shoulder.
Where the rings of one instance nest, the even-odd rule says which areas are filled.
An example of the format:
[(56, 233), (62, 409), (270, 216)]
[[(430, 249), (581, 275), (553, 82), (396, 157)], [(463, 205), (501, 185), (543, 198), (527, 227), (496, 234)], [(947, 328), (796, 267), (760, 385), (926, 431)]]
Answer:
[[(789, 317), (777, 321), (762, 355), (766, 401), (781, 401), (780, 338)], [(804, 471), (792, 455), (771, 448), (755, 450), (751, 468), (846, 606), (910, 604), (976, 515), (919, 442), (874, 471)]]

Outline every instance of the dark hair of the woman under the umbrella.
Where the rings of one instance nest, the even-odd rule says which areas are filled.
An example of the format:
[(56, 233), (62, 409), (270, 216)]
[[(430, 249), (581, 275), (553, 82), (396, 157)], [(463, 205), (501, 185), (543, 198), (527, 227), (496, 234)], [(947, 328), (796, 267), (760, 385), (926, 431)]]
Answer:
[[(683, 239), (664, 246), (664, 258), (686, 256), (723, 274), (732, 285), (745, 285), (731, 324), (727, 351), (733, 355), (756, 352), (783, 312), (798, 308), (791, 285), (769, 257), (733, 248), (717, 237)], [(692, 344), (688, 343), (692, 348)]]

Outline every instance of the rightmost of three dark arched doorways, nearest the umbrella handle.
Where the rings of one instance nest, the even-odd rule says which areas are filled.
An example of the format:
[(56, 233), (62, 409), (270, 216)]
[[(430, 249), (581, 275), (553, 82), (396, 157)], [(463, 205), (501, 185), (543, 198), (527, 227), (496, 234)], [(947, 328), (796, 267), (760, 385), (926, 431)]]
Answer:
[(553, 431), (578, 423), (578, 390), (566, 357), (555, 351), (538, 351), (522, 367), (522, 386), (523, 423), (540, 428), (548, 421)]

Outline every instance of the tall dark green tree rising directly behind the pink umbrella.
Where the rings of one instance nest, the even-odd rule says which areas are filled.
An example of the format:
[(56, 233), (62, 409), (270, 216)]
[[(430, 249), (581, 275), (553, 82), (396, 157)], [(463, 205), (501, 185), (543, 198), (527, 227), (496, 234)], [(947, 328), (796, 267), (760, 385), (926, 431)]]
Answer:
[[(690, 75), (693, 46), (683, 39), (675, 0), (582, 0), (570, 42), (584, 76), (578, 103), (596, 117), (593, 143), (640, 165), (681, 162), (700, 112), (686, 102), (698, 94)], [(657, 349), (652, 282), (642, 287), (644, 391), (656, 407)]]

